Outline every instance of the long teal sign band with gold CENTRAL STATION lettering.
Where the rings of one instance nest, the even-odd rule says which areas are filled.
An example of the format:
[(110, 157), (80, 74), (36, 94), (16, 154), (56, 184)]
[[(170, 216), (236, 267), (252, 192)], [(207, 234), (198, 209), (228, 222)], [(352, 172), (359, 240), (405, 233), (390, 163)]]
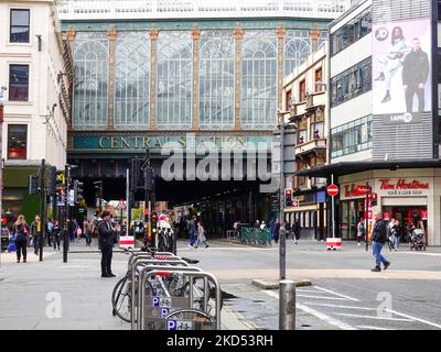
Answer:
[(141, 152), (149, 148), (159, 153), (162, 148), (181, 150), (247, 150), (271, 148), (271, 135), (74, 135), (74, 152)]

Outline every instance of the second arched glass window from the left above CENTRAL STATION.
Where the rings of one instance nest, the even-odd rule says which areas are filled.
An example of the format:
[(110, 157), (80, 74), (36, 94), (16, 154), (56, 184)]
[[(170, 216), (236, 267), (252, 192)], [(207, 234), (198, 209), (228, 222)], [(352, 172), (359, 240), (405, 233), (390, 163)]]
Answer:
[(115, 127), (149, 124), (150, 37), (147, 32), (119, 32), (115, 65)]

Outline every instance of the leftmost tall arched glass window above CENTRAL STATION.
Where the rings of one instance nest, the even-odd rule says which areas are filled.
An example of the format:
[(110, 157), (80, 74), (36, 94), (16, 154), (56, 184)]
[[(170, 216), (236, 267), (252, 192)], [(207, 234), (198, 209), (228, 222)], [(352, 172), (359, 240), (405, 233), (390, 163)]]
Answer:
[(75, 38), (74, 119), (76, 130), (107, 127), (109, 54), (107, 33), (77, 33)]

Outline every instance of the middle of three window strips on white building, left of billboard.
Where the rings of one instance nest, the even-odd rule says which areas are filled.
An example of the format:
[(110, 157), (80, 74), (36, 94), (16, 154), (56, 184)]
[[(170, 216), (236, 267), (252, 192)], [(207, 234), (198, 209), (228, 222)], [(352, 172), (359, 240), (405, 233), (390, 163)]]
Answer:
[(372, 89), (372, 57), (331, 78), (331, 107), (358, 97)]

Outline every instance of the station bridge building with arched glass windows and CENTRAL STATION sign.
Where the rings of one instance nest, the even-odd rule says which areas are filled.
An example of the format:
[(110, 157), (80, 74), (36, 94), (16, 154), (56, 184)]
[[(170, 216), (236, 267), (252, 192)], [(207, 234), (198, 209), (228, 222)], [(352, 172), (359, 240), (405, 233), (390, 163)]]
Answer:
[[(68, 134), (68, 158), (79, 165), (75, 176), (86, 184), (97, 177), (112, 183), (147, 148), (160, 175), (169, 142), (185, 153), (208, 143), (244, 152), (263, 143), (269, 154), (283, 77), (324, 45), (329, 22), (349, 3), (62, 2), (62, 28), (75, 59)], [(215, 194), (233, 197), (229, 190), (237, 188), (247, 189), (233, 185)], [(244, 208), (243, 222), (268, 220), (263, 205), (270, 200), (256, 185), (236, 196), (233, 204), (207, 205), (207, 212), (219, 223), (234, 221), (229, 215)]]

